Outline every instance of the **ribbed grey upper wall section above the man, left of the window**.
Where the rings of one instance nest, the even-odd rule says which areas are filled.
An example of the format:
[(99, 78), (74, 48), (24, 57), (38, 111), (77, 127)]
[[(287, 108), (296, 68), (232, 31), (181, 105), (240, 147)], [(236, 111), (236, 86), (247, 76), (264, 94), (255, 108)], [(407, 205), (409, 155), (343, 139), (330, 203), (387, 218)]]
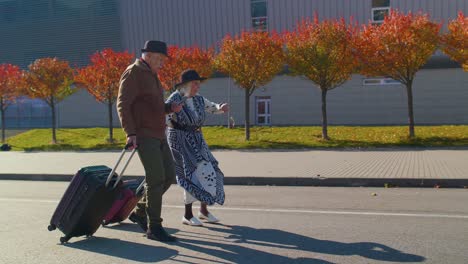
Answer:
[(123, 46), (138, 54), (145, 40), (169, 45), (215, 45), (250, 26), (250, 1), (121, 0)]

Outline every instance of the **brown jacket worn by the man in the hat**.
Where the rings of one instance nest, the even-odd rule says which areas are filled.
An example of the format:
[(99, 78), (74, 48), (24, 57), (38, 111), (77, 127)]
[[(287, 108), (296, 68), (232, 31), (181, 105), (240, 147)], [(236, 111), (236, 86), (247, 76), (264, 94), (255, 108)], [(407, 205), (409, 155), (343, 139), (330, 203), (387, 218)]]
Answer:
[(117, 111), (127, 136), (166, 138), (163, 88), (156, 74), (140, 59), (128, 66), (120, 78)]

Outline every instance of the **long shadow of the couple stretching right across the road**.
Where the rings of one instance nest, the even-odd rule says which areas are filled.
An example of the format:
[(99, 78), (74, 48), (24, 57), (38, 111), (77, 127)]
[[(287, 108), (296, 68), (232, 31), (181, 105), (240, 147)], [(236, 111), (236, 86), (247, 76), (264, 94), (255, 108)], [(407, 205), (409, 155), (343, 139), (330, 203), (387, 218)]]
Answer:
[(185, 237), (192, 238), (193, 236), (184, 236), (184, 233), (187, 232), (181, 231), (179, 233), (180, 242), (177, 245), (235, 263), (330, 263), (319, 259), (290, 258), (284, 255), (268, 253), (252, 249), (252, 245), (338, 256), (357, 255), (379, 261), (423, 262), (425, 260), (422, 256), (404, 253), (386, 245), (373, 242), (343, 243), (314, 239), (282, 230), (257, 229), (246, 226), (218, 225), (218, 227), (210, 226), (208, 228), (212, 231), (226, 233), (227, 235), (223, 240), (228, 239), (230, 243), (218, 243), (218, 239), (208, 239), (208, 241), (187, 239)]

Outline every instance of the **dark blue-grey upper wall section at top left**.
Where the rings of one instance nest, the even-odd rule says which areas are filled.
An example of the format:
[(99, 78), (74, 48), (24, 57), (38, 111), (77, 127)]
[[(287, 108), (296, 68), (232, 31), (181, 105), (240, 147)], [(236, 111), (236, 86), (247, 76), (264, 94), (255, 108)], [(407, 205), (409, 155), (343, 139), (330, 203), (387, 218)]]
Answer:
[(120, 50), (118, 11), (118, 0), (2, 0), (0, 63), (56, 56), (81, 66), (97, 50)]

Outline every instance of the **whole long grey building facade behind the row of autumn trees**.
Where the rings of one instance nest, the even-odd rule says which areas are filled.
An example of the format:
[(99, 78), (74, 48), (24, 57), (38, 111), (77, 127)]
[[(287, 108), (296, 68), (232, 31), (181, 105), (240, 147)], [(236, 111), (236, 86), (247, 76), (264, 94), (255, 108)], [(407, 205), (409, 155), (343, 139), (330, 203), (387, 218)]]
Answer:
[[(0, 53), (0, 63), (11, 62), (23, 67), (47, 54), (83, 65), (89, 55), (104, 47), (128, 50), (138, 56), (148, 39), (164, 40), (169, 45), (217, 47), (226, 34), (251, 28), (292, 30), (298, 21), (312, 18), (314, 14), (320, 20), (352, 17), (366, 24), (381, 23), (390, 9), (398, 9), (428, 13), (431, 19), (446, 24), (459, 11), (468, 13), (468, 0), (77, 0), (72, 6), (69, 1), (61, 0), (0, 0), (0, 10), (5, 10), (4, 3), (10, 2), (17, 3), (16, 10), (29, 6), (25, 3), (36, 3), (48, 14), (44, 21), (49, 24), (38, 26), (37, 30), (26, 25), (35, 24), (34, 20), (3, 16), (10, 26), (2, 22), (0, 33), (12, 36), (5, 42), (6, 50), (12, 53)], [(69, 18), (67, 12), (75, 15)], [(24, 25), (20, 30), (12, 30), (17, 24)], [(28, 47), (31, 42), (37, 46)], [(1, 46), (4, 46), (3, 39)], [(13, 52), (18, 50), (19, 57)], [(418, 72), (414, 82), (416, 123), (468, 124), (467, 87), (468, 74), (437, 52)], [(202, 85), (201, 93), (212, 101), (231, 104), (229, 115), (211, 116), (207, 120), (209, 125), (227, 125), (231, 117), (236, 125), (244, 123), (244, 93), (230, 78), (209, 79)], [(354, 75), (330, 91), (327, 100), (330, 124), (407, 123), (405, 87), (393, 80)], [(320, 92), (312, 82), (301, 77), (278, 75), (254, 92), (250, 109), (251, 123), (256, 125), (317, 125), (321, 118)], [(58, 126), (106, 126), (106, 111), (105, 105), (79, 91), (58, 106)], [(118, 125), (118, 120), (114, 122)]]

